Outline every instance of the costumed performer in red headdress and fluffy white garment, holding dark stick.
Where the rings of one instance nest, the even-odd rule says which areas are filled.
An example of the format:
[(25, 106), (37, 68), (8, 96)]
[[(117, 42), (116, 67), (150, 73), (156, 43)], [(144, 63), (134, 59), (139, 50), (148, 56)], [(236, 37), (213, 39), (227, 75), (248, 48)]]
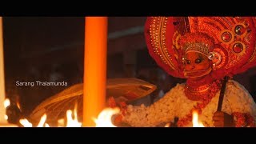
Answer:
[(210, 127), (255, 126), (256, 104), (232, 80), (256, 65), (253, 17), (149, 17), (145, 37), (158, 66), (186, 78), (151, 106), (122, 106), (114, 123), (192, 126), (192, 112)]

